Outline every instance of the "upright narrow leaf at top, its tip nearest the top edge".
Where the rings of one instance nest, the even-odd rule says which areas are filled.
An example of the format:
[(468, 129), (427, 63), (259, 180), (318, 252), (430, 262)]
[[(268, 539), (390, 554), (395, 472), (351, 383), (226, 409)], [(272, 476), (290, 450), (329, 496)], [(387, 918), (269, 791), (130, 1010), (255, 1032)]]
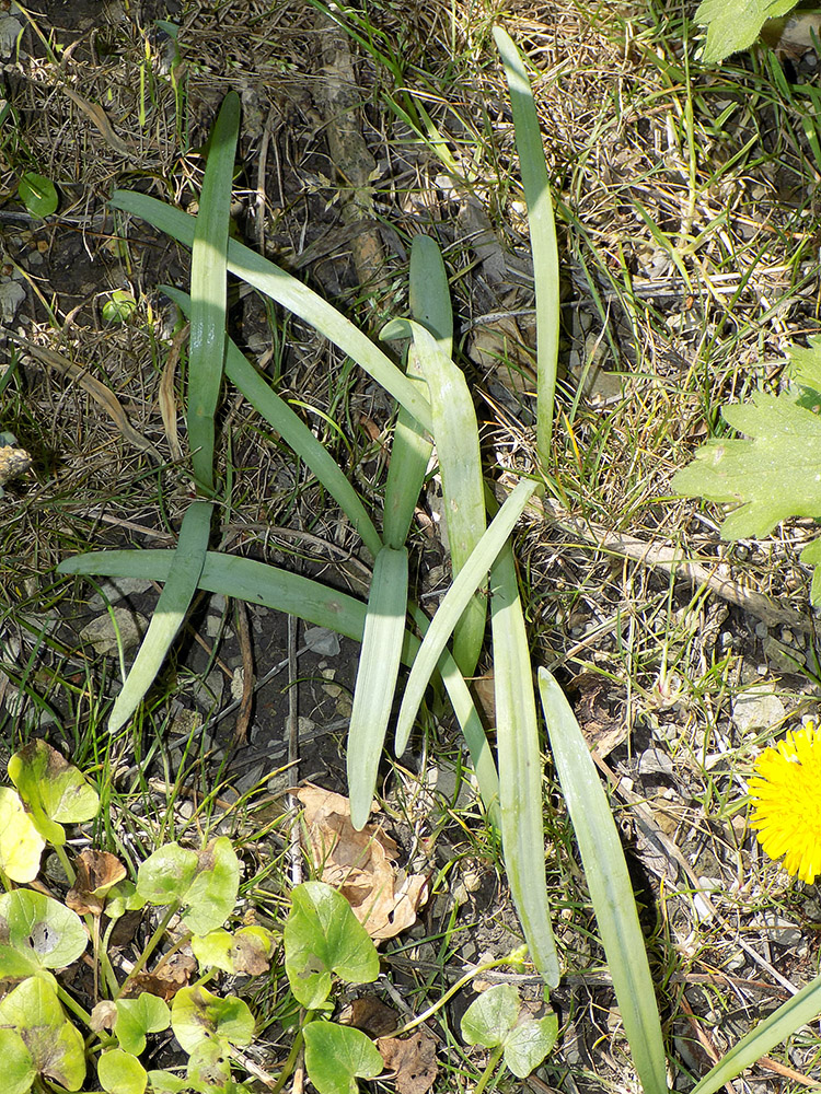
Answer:
[(533, 281), (536, 292), (536, 450), (547, 470), (553, 435), (553, 406), (558, 362), (559, 286), (556, 222), (547, 178), (547, 165), (539, 130), (533, 92), (519, 50), (510, 35), (494, 27), (494, 40), (501, 56), (516, 129), (516, 147), (528, 206), (530, 245), (533, 252)]

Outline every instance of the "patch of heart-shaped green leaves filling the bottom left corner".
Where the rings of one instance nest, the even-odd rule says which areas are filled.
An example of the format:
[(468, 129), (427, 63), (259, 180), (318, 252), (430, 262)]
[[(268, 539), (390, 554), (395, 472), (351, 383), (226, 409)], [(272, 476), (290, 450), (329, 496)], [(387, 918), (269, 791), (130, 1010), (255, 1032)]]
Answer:
[[(380, 969), (375, 946), (344, 896), (322, 882), (305, 882), (291, 893), (281, 930), (250, 921), (248, 909), (243, 926), (227, 930), (226, 922), (235, 916), (240, 882), (240, 862), (227, 837), (209, 840), (199, 850), (165, 843), (139, 864), (131, 880), (125, 864), (107, 851), (86, 849), (73, 861), (68, 857), (63, 825), (93, 819), (100, 799), (58, 752), (35, 741), (12, 756), (9, 775), (14, 789), (0, 788), (3, 1094), (79, 1091), (90, 1073), (107, 1094), (246, 1090), (243, 1049), (254, 1043), (257, 1023), (243, 999), (206, 985), (220, 971), (243, 978), (266, 974), (280, 943), (292, 993), (282, 1011), (303, 1011), (297, 1024), (290, 1024), (292, 1044), (279, 1074), (268, 1075), (257, 1066), (254, 1078), (281, 1090), (302, 1049), (319, 1094), (356, 1094), (358, 1078), (373, 1079), (384, 1070), (370, 1037), (331, 1019), (336, 980), (370, 984)], [(47, 846), (66, 872), (60, 899), (26, 887), (37, 883)], [(127, 911), (141, 915), (152, 928), (128, 966), (115, 957), (113, 943)], [(188, 950), (199, 976), (183, 987), (164, 976), (163, 968), (175, 953)], [(520, 958), (516, 953), (476, 971)], [(83, 975), (86, 962), (91, 978)], [(58, 979), (60, 969), (73, 975)], [(473, 975), (407, 1028), (441, 1009)], [(483, 1085), (502, 1054), (507, 1066), (524, 1075), (541, 1063), (556, 1037), (555, 1015), (520, 1017), (516, 990), (506, 989), (504, 1000), (497, 1000), (498, 994), (492, 989), (487, 998), (481, 996), (463, 1021), (469, 1044), (498, 1046)], [(141, 1058), (153, 1052), (167, 1029), (176, 1037), (184, 1066), (147, 1068)], [(391, 1040), (395, 1044), (403, 1032)]]

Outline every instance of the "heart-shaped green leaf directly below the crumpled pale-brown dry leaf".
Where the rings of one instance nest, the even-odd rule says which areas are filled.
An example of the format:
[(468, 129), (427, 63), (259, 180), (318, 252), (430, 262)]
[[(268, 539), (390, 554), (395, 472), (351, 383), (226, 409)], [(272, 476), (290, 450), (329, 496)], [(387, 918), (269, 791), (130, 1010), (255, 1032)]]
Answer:
[(379, 976), (379, 955), (370, 935), (336, 889), (304, 882), (291, 894), (285, 924), (285, 969), (298, 1002), (313, 1010), (327, 999), (331, 974), (349, 984)]

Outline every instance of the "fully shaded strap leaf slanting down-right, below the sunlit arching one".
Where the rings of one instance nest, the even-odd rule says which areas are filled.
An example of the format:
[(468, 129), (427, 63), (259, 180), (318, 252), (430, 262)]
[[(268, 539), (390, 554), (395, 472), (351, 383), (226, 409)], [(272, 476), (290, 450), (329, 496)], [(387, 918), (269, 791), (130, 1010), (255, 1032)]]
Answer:
[[(163, 286), (162, 291), (178, 305), (185, 315), (189, 314), (190, 298), (187, 293), (171, 286)], [(359, 494), (327, 449), (320, 443), (285, 399), (273, 391), (264, 376), (261, 376), (251, 362), (246, 360), (232, 338), (229, 338), (227, 344), (226, 375), (263, 418), (274, 427), (282, 440), (293, 449), (300, 459), (304, 461), (307, 466), (311, 468), (375, 558), (382, 547), (382, 540), (373, 522), (368, 516)]]

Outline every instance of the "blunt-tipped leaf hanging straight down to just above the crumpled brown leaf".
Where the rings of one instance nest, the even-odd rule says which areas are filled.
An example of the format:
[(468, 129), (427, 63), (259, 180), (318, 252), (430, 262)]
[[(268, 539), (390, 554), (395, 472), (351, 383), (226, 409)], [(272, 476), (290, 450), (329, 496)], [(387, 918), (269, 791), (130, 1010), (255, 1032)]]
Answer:
[(373, 566), (348, 730), (350, 821), (363, 828), (377, 789), (407, 612), (407, 551), (383, 547)]

